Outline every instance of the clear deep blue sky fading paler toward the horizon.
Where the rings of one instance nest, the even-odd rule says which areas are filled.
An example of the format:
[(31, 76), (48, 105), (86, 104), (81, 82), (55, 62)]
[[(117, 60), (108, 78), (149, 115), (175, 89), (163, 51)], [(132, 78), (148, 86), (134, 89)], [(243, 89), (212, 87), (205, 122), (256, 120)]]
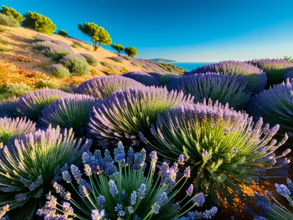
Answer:
[(1, 0), (1, 4), (21, 13), (41, 13), (57, 30), (88, 42), (77, 24), (94, 22), (109, 32), (112, 43), (137, 48), (139, 58), (210, 62), (293, 56), (292, 0)]

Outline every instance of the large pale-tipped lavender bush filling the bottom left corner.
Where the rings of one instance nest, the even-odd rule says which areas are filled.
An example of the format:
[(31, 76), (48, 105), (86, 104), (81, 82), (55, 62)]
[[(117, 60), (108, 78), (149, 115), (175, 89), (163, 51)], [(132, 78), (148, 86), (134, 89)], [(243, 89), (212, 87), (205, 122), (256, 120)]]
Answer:
[(51, 181), (62, 179), (60, 172), (90, 148), (91, 140), (81, 145), (73, 136), (72, 129), (60, 133), (59, 127), (49, 126), (23, 134), (11, 149), (0, 149), (0, 205), (17, 208), (8, 212), (12, 219), (32, 219), (45, 204), (42, 194), (50, 190)]

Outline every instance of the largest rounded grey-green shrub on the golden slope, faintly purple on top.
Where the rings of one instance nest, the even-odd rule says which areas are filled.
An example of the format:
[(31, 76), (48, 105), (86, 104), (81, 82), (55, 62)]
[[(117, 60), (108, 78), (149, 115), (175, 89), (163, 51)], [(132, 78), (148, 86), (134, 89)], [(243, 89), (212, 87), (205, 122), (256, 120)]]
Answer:
[(64, 56), (60, 62), (69, 69), (72, 75), (82, 76), (90, 73), (86, 58), (80, 54)]

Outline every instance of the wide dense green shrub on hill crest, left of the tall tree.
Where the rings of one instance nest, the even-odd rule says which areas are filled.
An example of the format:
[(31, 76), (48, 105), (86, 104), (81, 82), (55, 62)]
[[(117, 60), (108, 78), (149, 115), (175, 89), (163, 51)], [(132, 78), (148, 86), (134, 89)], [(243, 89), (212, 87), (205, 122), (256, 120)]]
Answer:
[(29, 11), (25, 13), (24, 17), (25, 20), (21, 25), (25, 28), (34, 29), (46, 34), (51, 34), (56, 30), (56, 25), (52, 20), (39, 13)]

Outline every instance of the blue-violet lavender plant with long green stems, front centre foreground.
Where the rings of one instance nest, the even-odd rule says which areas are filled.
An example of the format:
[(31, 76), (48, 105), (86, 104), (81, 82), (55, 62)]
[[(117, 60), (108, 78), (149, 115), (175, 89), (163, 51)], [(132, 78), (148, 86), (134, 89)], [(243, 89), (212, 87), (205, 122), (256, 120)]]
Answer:
[[(63, 219), (70, 217), (79, 219), (175, 219), (185, 213), (188, 213), (189, 216), (197, 214), (206, 218), (211, 218), (217, 213), (216, 207), (204, 213), (192, 212), (195, 206), (202, 206), (205, 196), (202, 193), (192, 196), (191, 187), (187, 192), (188, 201), (183, 207), (193, 203), (183, 213), (179, 213), (180, 204), (179, 202), (174, 203), (173, 198), (190, 177), (188, 168), (185, 170), (184, 176), (177, 181), (178, 163), (174, 163), (170, 168), (167, 163), (163, 163), (158, 172), (158, 180), (154, 180), (156, 152), (153, 151), (150, 154), (152, 161), (148, 174), (147, 172), (144, 174), (146, 168), (144, 149), (134, 154), (132, 148), (129, 148), (127, 158), (125, 158), (125, 150), (122, 143), (119, 142), (118, 148), (114, 149), (114, 157), (118, 168), (108, 150), (105, 150), (104, 158), (102, 158), (100, 150), (96, 150), (94, 155), (89, 152), (83, 153), (84, 177), (74, 165), (71, 165), (72, 175), (69, 171), (62, 172), (64, 181), (71, 185), (75, 181), (78, 183), (78, 187), (74, 187), (72, 195), (79, 192), (79, 199), (71, 197), (70, 193), (65, 191), (67, 188), (65, 189), (55, 182), (56, 192), (66, 202), (57, 203), (57, 198), (49, 193), (45, 207), (39, 209), (37, 214), (46, 216), (44, 219), (53, 219), (57, 217), (57, 210), (59, 210), (59, 216)], [(181, 188), (175, 188), (176, 185), (181, 185)]]

